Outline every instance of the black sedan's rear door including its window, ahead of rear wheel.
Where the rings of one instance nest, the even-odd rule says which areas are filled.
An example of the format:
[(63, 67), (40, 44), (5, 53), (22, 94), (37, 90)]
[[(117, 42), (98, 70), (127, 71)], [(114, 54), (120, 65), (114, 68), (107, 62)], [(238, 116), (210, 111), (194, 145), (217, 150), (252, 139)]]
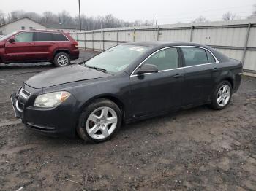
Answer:
[(216, 60), (201, 47), (181, 47), (184, 58), (184, 106), (208, 101), (214, 87)]

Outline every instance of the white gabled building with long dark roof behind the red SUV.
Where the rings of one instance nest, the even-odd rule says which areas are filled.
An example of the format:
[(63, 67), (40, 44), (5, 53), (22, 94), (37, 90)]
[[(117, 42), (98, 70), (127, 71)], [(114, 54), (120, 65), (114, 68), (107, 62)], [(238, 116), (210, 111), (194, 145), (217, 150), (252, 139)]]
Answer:
[(78, 26), (65, 26), (61, 24), (53, 24), (53, 23), (37, 23), (34, 20), (31, 20), (28, 17), (15, 20), (11, 23), (7, 23), (5, 25), (0, 26), (0, 35), (7, 35), (14, 31), (20, 30), (32, 30), (32, 29), (43, 29), (43, 30), (54, 30), (54, 31), (62, 31), (62, 32), (78, 32)]

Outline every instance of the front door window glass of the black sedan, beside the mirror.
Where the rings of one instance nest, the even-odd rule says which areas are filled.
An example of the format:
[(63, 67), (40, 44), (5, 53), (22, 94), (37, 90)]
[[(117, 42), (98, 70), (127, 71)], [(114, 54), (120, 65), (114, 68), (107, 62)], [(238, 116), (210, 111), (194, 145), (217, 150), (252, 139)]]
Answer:
[(177, 48), (168, 48), (152, 55), (145, 63), (157, 66), (159, 71), (178, 68)]

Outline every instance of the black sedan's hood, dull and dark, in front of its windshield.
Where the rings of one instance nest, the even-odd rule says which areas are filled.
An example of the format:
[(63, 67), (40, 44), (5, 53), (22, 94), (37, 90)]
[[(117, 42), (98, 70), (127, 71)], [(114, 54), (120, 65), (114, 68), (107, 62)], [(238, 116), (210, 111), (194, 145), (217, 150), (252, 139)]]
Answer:
[(29, 78), (25, 83), (34, 88), (50, 87), (54, 85), (66, 84), (69, 82), (78, 82), (88, 79), (97, 79), (102, 77), (109, 77), (110, 74), (96, 69), (89, 69), (79, 64), (72, 66), (61, 67), (57, 69), (50, 69)]

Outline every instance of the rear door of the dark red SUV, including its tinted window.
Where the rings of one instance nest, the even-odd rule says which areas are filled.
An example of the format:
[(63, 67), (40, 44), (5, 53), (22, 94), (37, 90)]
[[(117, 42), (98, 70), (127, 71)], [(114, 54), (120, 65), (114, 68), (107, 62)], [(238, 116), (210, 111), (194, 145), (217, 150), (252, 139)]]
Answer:
[(49, 32), (35, 32), (34, 40), (37, 60), (49, 61), (54, 50), (58, 48), (57, 42), (53, 41), (53, 34)]

